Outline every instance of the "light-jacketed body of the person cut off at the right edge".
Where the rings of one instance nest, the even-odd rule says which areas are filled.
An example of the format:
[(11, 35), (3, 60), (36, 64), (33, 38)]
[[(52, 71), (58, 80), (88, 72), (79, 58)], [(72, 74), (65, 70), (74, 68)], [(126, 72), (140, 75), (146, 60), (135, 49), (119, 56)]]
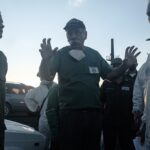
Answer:
[(150, 150), (150, 54), (140, 68), (133, 91), (133, 114), (135, 122), (142, 120), (140, 136), (146, 150)]

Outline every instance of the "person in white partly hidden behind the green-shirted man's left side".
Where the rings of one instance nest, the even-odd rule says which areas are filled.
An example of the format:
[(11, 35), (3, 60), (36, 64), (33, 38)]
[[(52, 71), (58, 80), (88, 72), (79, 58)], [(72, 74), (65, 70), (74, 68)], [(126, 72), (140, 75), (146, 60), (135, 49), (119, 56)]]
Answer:
[(50, 143), (50, 129), (46, 118), (45, 110), (47, 107), (47, 97), (49, 90), (55, 85), (51, 80), (41, 78), (41, 83), (38, 87), (31, 89), (25, 96), (25, 104), (31, 112), (40, 110), (40, 117), (38, 123), (38, 130), (46, 137), (45, 149), (49, 147)]

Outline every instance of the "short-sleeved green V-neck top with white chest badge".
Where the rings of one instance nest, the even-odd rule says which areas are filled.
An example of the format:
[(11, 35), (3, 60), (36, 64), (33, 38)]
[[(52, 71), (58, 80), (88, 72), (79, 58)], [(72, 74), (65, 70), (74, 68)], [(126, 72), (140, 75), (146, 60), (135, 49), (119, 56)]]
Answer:
[(50, 75), (58, 72), (60, 109), (100, 109), (99, 81), (111, 71), (110, 65), (92, 48), (84, 47), (85, 57), (76, 60), (70, 55), (71, 47), (58, 51), (45, 63)]

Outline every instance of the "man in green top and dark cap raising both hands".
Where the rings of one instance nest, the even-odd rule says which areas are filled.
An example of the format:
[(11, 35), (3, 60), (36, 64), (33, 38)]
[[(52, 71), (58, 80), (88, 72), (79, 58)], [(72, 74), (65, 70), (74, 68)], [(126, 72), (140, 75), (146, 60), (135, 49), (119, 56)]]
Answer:
[(84, 46), (84, 23), (71, 19), (64, 27), (69, 46), (52, 50), (50, 39), (43, 39), (40, 74), (49, 78), (58, 73), (59, 141), (61, 150), (99, 150), (102, 128), (102, 104), (99, 81), (113, 79), (136, 62), (137, 48), (126, 49), (120, 68), (112, 71), (94, 49)]

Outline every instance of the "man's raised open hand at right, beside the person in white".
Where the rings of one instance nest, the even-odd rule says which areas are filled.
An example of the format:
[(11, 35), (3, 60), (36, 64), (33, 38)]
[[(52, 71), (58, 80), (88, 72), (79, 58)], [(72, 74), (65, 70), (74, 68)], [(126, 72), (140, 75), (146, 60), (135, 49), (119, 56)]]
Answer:
[(141, 52), (136, 53), (137, 49), (138, 48), (135, 46), (126, 48), (125, 59), (128, 67), (131, 67), (132, 65), (137, 65), (136, 57), (141, 53)]

